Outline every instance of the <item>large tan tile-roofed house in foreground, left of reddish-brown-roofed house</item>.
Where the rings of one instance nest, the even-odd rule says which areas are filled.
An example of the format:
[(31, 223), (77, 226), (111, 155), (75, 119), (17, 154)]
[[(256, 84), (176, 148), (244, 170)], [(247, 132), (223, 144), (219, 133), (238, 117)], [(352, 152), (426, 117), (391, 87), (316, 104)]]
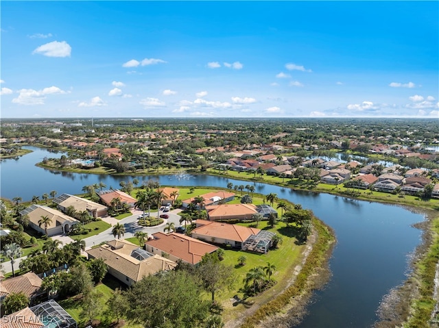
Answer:
[(108, 266), (108, 273), (132, 286), (136, 281), (161, 271), (173, 270), (177, 264), (156, 253), (141, 249), (128, 240), (111, 240), (86, 251), (88, 258), (100, 258)]

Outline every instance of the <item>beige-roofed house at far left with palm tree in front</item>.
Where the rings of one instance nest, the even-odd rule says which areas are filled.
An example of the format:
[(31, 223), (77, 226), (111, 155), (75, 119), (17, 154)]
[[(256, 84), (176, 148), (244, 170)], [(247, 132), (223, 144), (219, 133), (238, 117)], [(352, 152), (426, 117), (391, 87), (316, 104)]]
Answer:
[(20, 214), (22, 216), (27, 215), (27, 218), (29, 218), (29, 227), (32, 227), (32, 229), (41, 234), (45, 234), (45, 225), (39, 225), (38, 221), (45, 216), (50, 218), (51, 222), (47, 224), (47, 236), (66, 234), (70, 231), (72, 225), (80, 223), (80, 221), (75, 218), (71, 218), (54, 208), (43, 205), (32, 204), (21, 211)]

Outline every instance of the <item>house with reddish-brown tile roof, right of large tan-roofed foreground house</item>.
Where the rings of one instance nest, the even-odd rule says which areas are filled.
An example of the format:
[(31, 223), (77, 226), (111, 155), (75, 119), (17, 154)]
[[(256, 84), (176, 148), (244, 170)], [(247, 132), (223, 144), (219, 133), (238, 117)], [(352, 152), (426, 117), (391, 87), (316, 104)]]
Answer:
[(195, 265), (201, 261), (204, 255), (218, 249), (218, 247), (201, 240), (174, 232), (171, 234), (156, 232), (152, 236), (154, 239), (145, 243), (146, 250), (153, 254), (165, 254), (169, 260), (176, 262), (182, 260), (182, 262)]

